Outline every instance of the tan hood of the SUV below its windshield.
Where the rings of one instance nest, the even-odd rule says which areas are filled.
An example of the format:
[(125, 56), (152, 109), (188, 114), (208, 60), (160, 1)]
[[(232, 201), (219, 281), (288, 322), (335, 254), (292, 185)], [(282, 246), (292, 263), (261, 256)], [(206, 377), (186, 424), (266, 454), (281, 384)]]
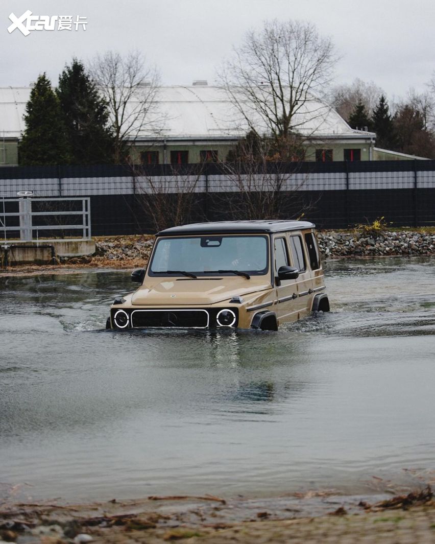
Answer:
[(209, 305), (231, 299), (233, 296), (270, 289), (270, 283), (265, 283), (264, 280), (263, 276), (251, 276), (250, 280), (239, 276), (198, 278), (197, 280), (164, 278), (153, 286), (139, 287), (133, 293), (132, 304), (136, 306)]

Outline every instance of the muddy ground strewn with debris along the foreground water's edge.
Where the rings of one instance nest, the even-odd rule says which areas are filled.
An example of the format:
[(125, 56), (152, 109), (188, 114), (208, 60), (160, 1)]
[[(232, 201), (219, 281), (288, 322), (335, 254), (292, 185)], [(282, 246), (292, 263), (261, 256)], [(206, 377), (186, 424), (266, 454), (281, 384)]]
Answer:
[(377, 502), (368, 499), (320, 493), (250, 500), (204, 496), (70, 506), (3, 504), (0, 537), (17, 544), (435, 542), (430, 488)]

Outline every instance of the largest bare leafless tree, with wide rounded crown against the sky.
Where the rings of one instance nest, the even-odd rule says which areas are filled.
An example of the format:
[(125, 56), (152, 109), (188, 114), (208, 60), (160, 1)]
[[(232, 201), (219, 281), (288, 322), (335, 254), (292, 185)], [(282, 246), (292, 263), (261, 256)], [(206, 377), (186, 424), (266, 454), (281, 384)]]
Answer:
[(313, 24), (266, 21), (234, 48), (218, 78), (250, 129), (285, 139), (311, 132), (327, 113), (314, 97), (330, 83), (336, 60), (331, 39)]

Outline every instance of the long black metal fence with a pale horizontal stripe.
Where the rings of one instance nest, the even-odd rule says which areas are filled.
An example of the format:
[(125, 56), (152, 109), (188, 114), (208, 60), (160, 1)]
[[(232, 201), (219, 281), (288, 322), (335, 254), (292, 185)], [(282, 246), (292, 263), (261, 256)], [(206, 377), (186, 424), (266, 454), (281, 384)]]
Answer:
[(432, 160), (272, 163), (257, 171), (228, 164), (0, 168), (0, 196), (9, 200), (20, 190), (42, 199), (89, 198), (94, 234), (153, 232), (153, 209), (187, 194), (182, 220), (240, 219), (247, 195), (266, 202), (273, 193), (279, 214), (303, 211), (320, 228), (381, 216), (392, 225), (435, 225)]

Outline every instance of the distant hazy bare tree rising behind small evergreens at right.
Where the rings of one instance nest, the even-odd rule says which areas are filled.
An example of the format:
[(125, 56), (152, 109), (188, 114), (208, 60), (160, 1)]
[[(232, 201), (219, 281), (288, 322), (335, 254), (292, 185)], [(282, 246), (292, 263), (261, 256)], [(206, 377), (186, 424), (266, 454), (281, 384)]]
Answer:
[(328, 102), (349, 122), (350, 115), (358, 103), (363, 104), (369, 116), (376, 108), (380, 98), (385, 93), (374, 82), (368, 83), (356, 78), (349, 84), (336, 85), (328, 94)]

